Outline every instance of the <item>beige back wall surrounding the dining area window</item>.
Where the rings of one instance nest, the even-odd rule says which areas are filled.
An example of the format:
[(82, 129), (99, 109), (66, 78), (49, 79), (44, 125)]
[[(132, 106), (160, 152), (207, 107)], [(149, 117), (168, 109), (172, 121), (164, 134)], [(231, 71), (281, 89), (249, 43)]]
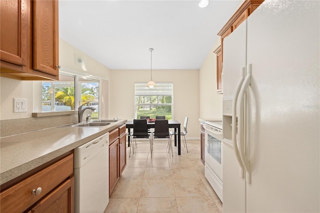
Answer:
[[(134, 118), (134, 82), (147, 82), (150, 70), (111, 70), (110, 117)], [(192, 70), (152, 70), (155, 82), (173, 82), (173, 119), (188, 116), (187, 138), (199, 138), (199, 74)]]

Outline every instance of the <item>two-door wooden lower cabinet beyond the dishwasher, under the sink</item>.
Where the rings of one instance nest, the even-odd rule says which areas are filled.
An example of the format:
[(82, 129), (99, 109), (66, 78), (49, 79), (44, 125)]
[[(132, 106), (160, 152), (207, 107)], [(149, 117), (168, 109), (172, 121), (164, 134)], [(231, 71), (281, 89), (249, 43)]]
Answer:
[(125, 124), (109, 131), (109, 195), (126, 166)]

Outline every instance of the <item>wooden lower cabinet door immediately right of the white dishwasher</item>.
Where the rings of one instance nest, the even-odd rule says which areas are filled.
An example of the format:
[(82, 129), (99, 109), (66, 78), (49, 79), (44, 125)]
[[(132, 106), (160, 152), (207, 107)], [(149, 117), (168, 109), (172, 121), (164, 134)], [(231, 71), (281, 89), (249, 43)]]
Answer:
[(119, 178), (119, 139), (109, 145), (109, 195), (111, 195)]

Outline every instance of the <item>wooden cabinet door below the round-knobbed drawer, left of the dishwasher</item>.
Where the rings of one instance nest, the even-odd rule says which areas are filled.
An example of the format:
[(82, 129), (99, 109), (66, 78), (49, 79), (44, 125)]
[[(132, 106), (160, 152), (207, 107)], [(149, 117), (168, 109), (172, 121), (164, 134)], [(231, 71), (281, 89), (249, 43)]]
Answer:
[(74, 209), (74, 177), (66, 180), (54, 191), (44, 197), (32, 209), (36, 212), (70, 213)]

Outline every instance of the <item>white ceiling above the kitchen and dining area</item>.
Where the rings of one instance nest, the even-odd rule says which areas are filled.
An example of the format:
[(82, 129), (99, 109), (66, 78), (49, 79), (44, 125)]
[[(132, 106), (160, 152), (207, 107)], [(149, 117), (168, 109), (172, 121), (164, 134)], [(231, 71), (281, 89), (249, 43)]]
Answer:
[[(198, 69), (242, 0), (59, 0), (59, 36), (110, 69)], [(85, 61), (84, 61), (85, 62)]]

